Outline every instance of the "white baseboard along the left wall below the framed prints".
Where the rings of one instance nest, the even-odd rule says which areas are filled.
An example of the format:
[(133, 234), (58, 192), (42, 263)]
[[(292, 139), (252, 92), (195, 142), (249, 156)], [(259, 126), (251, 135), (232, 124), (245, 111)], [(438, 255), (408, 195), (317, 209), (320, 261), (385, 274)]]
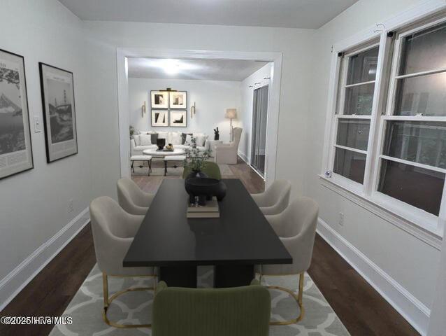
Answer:
[(84, 209), (0, 281), (0, 311), (89, 223)]

